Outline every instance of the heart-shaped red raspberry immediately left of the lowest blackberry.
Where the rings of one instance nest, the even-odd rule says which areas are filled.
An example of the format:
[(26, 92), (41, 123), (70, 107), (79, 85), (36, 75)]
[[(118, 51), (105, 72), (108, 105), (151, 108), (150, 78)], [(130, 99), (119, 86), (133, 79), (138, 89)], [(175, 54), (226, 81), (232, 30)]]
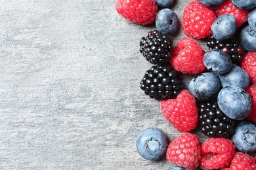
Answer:
[(198, 124), (196, 100), (187, 90), (181, 90), (177, 99), (161, 101), (163, 116), (178, 130), (188, 132)]

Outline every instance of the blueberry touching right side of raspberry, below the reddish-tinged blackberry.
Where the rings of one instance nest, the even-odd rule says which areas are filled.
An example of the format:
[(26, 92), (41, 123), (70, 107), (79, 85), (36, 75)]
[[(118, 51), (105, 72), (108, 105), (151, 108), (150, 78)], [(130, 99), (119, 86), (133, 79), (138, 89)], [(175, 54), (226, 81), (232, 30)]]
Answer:
[(222, 50), (209, 50), (203, 55), (205, 67), (215, 75), (226, 73), (232, 66), (232, 60)]

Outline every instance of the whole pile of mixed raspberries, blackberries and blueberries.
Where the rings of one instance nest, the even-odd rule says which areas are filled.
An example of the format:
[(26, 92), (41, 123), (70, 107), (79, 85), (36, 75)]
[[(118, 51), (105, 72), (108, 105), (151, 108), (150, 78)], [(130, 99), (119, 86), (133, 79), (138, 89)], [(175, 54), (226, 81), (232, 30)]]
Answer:
[[(171, 39), (179, 20), (173, 0), (117, 0), (130, 22), (156, 24), (140, 40), (152, 63), (140, 88), (160, 101), (164, 118), (182, 135), (168, 141), (157, 128), (137, 137), (147, 160), (176, 163), (170, 169), (256, 169), (256, 1), (194, 0), (182, 14), (183, 37)], [(160, 9), (161, 8), (161, 9)], [(205, 40), (204, 51), (198, 40)], [(192, 79), (185, 89), (182, 76)], [(193, 130), (207, 137), (200, 143)]]

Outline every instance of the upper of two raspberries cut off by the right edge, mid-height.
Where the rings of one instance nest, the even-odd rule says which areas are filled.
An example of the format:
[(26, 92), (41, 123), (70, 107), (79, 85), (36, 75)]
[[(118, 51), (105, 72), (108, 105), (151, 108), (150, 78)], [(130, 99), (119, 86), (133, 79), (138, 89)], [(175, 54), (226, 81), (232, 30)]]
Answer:
[(247, 52), (241, 61), (241, 67), (244, 69), (250, 79), (251, 83), (256, 84), (256, 52)]

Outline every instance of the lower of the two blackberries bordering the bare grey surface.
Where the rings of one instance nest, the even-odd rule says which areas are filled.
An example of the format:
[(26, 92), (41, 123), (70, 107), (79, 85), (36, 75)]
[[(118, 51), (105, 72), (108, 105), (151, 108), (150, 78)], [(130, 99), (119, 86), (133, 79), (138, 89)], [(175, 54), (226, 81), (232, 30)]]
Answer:
[(141, 90), (158, 101), (173, 99), (183, 89), (182, 79), (170, 65), (154, 65), (146, 71), (140, 82)]

